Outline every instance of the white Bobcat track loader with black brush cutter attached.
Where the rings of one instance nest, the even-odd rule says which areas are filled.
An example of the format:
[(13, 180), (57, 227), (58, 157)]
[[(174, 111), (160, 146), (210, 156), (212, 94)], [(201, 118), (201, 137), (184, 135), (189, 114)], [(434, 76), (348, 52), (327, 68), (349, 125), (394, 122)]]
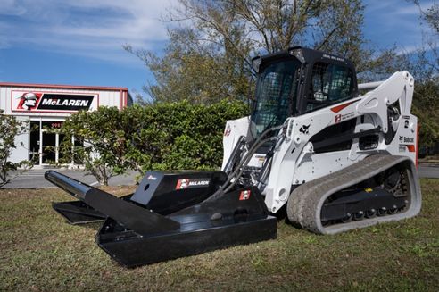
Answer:
[(128, 267), (276, 238), (284, 206), (318, 234), (419, 213), (409, 72), (359, 86), (348, 60), (298, 46), (253, 67), (253, 111), (227, 122), (221, 171), (150, 171), (121, 198), (47, 171), (79, 199), (54, 210), (72, 224), (104, 221), (97, 244)]

